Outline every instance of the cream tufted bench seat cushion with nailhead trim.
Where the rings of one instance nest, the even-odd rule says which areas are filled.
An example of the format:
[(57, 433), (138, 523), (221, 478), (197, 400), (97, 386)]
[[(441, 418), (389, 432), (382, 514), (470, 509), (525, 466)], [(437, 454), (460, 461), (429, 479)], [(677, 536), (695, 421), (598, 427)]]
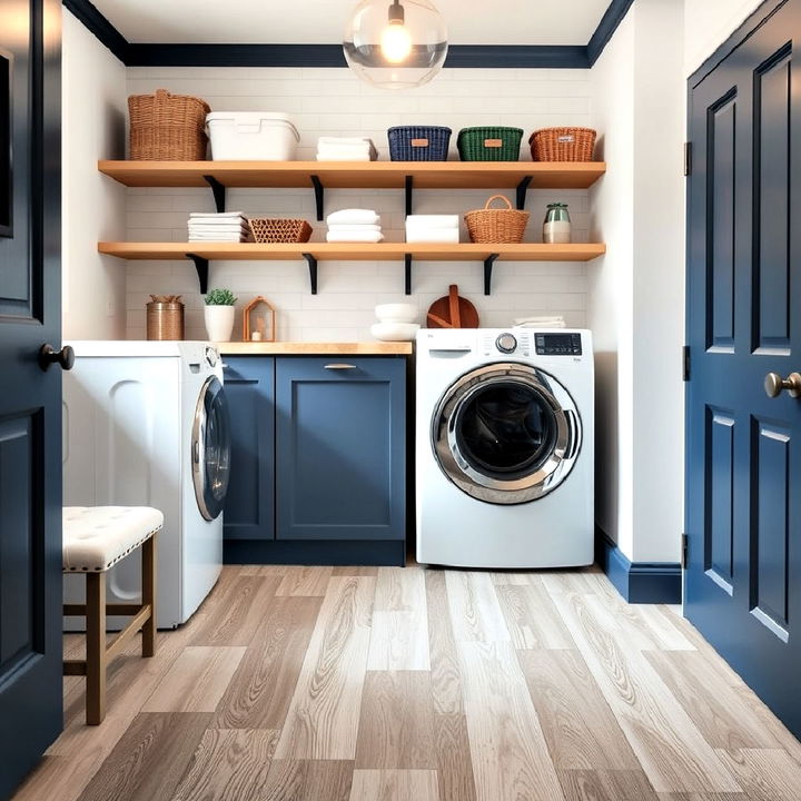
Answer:
[(162, 525), (164, 514), (149, 506), (67, 506), (63, 510), (63, 571), (107, 571)]

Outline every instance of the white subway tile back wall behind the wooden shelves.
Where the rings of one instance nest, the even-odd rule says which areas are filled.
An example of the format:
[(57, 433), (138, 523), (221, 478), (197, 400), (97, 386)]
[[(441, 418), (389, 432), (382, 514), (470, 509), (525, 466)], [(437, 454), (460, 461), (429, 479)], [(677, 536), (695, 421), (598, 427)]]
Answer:
[[(346, 69), (156, 68), (128, 70), (128, 93), (172, 92), (202, 97), (215, 111), (281, 111), (300, 131), (298, 158), (314, 159), (320, 136), (369, 136), (380, 159), (388, 159), (386, 129), (395, 125), (445, 125), (453, 129), (451, 158), (457, 159), (456, 134), (477, 125), (525, 130), (521, 154), (531, 159), (528, 135), (550, 126), (590, 126), (587, 70), (443, 70), (419, 89), (390, 93), (373, 89)], [(415, 214), (459, 214), (482, 208), (485, 190), (416, 191)], [(514, 202), (514, 191), (503, 192)], [(382, 215), (388, 241), (404, 240), (402, 190), (327, 190), (326, 214), (339, 208), (373, 208)], [(585, 190), (532, 190), (526, 209), (526, 240), (542, 239), (545, 206), (570, 204), (574, 241), (587, 241)], [(313, 241), (324, 241), (326, 226), (315, 219), (312, 189), (229, 189), (227, 208), (250, 216), (305, 217)], [(205, 189), (128, 189), (127, 237), (132, 241), (186, 241), (190, 211), (214, 211)], [(462, 224), (462, 241), (469, 241)], [(483, 294), (481, 263), (414, 263), (412, 296), (404, 295), (404, 265), (384, 261), (322, 261), (318, 295), (309, 291), (305, 261), (212, 261), (210, 287), (227, 287), (241, 308), (264, 295), (277, 308), (281, 340), (367, 340), (380, 303), (415, 303), (421, 322), (449, 284), (476, 305), (487, 327), (511, 325), (515, 317), (563, 314), (571, 326), (586, 324), (587, 269), (583, 263), (496, 263), (493, 294)], [(202, 296), (189, 261), (129, 261), (127, 335), (145, 338), (145, 304), (150, 294), (182, 294), (186, 335), (205, 338)], [(238, 319), (235, 337), (241, 335)]]

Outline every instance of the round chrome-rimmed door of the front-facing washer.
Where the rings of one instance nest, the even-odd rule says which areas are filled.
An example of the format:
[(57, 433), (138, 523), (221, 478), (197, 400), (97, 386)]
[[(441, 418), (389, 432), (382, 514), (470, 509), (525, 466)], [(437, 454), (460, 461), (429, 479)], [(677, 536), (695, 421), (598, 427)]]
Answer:
[(462, 376), (432, 421), (434, 455), (463, 492), (521, 504), (553, 492), (573, 469), (582, 427), (570, 393), (530, 365), (498, 363)]

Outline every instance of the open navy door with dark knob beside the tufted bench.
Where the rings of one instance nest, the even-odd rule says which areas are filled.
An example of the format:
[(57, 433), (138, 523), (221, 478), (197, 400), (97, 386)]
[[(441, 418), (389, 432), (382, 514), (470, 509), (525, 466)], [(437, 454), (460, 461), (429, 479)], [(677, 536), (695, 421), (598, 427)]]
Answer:
[(60, 20), (0, 2), (0, 799), (62, 721)]

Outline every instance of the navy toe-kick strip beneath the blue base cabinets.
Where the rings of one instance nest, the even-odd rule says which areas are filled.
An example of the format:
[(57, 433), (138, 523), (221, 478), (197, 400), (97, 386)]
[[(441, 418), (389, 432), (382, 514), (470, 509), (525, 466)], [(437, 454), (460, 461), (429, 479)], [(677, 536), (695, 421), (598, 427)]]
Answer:
[(226, 540), (222, 562), (404, 567), (406, 543), (399, 540)]

